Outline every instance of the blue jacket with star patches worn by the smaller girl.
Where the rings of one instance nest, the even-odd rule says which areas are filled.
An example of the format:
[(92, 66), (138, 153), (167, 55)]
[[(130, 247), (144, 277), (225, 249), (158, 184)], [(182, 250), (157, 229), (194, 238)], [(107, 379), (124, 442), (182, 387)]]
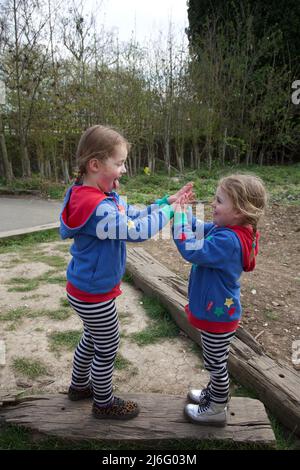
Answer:
[(243, 270), (255, 266), (250, 261), (252, 227), (219, 227), (193, 217), (190, 224), (186, 219), (183, 224), (175, 222), (173, 235), (180, 254), (193, 264), (186, 307), (189, 321), (212, 333), (235, 331), (242, 315), (239, 278)]

